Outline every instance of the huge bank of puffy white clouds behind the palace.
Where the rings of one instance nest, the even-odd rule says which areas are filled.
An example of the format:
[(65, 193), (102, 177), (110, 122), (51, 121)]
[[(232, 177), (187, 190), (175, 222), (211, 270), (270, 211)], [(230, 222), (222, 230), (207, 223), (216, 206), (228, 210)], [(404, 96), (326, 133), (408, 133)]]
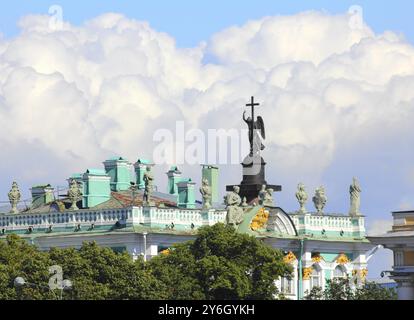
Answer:
[[(155, 130), (174, 131), (175, 121), (205, 132), (243, 128), (254, 95), (267, 126), (268, 181), (284, 185), (282, 205), (296, 209), (303, 181), (309, 193), (327, 184), (331, 211), (347, 210), (358, 175), (365, 212), (387, 216), (414, 192), (414, 47), (349, 19), (265, 17), (178, 48), (118, 14), (58, 30), (48, 16), (22, 18), (19, 36), (0, 38), (1, 198), (12, 180), (65, 184), (114, 154), (150, 158)], [(222, 173), (223, 184), (241, 179), (239, 166)]]

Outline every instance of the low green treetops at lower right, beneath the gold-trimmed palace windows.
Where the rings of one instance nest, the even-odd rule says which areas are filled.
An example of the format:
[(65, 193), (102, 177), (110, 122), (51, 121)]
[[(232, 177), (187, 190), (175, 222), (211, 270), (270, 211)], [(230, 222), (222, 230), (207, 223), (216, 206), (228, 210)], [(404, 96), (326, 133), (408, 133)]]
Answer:
[(367, 282), (353, 289), (348, 278), (327, 280), (326, 289), (314, 287), (305, 300), (396, 300), (394, 289), (381, 287), (377, 283)]

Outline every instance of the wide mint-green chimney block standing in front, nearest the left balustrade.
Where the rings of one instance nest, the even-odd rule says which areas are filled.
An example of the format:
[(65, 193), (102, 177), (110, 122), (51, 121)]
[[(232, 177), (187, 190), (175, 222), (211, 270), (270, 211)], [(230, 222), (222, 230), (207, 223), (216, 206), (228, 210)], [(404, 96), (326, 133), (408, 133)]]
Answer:
[(88, 169), (83, 174), (83, 208), (92, 208), (111, 198), (111, 177), (101, 169)]

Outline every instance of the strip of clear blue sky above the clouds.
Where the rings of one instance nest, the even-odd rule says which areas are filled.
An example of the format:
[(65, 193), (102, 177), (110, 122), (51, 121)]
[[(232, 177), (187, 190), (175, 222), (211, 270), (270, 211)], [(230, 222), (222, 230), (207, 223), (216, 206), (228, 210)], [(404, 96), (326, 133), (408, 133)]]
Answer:
[(6, 36), (18, 33), (16, 22), (26, 14), (47, 14), (51, 5), (63, 7), (64, 19), (74, 24), (106, 12), (120, 12), (130, 18), (145, 20), (158, 31), (164, 31), (182, 47), (195, 46), (213, 33), (231, 25), (240, 25), (267, 15), (295, 14), (304, 10), (326, 10), (344, 13), (352, 5), (364, 10), (364, 19), (377, 33), (385, 30), (402, 32), (414, 42), (412, 13), (414, 3), (395, 1), (275, 1), (275, 0), (153, 0), (153, 1), (27, 1), (1, 4), (0, 32)]

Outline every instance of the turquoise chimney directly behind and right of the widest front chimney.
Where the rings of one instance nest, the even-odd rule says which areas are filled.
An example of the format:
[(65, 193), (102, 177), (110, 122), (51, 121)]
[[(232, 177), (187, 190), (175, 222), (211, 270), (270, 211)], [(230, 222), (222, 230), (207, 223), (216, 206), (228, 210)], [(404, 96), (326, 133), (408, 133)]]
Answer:
[(130, 163), (122, 157), (106, 160), (104, 163), (106, 174), (111, 177), (111, 190), (128, 190), (131, 186)]

